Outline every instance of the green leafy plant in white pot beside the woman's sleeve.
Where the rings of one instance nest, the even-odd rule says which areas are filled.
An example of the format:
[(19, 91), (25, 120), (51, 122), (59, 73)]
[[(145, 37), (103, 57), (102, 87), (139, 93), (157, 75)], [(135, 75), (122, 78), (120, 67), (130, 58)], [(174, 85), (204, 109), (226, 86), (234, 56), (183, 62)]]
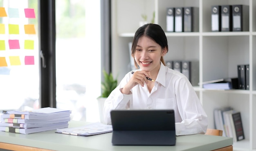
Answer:
[(99, 96), (97, 100), (99, 106), (100, 122), (105, 124), (103, 115), (104, 102), (110, 93), (117, 87), (117, 79), (113, 78), (111, 72), (108, 74), (105, 70), (103, 70), (103, 77), (104, 81), (101, 82), (101, 96)]

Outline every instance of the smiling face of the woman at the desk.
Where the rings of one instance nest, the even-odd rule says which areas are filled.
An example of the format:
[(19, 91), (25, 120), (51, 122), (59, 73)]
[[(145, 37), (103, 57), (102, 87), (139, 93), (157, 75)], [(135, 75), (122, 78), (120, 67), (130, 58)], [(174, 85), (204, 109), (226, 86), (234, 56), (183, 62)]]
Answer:
[(141, 36), (137, 42), (134, 57), (142, 71), (156, 71), (160, 69), (160, 59), (164, 56), (166, 49), (163, 49), (154, 40)]

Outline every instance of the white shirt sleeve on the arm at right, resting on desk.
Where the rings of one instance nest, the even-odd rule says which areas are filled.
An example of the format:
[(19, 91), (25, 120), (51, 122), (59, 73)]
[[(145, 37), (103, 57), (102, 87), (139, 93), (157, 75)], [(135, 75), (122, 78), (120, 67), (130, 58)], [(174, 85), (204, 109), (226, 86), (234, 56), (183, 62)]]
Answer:
[(175, 123), (176, 135), (206, 133), (207, 115), (191, 83), (181, 78), (175, 85), (177, 104), (182, 122)]

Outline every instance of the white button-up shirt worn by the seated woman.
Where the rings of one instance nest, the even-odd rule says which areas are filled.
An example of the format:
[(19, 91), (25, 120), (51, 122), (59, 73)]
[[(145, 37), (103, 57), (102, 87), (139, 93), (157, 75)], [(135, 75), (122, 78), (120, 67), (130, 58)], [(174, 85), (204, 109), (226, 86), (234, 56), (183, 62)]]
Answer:
[(137, 84), (128, 95), (121, 93), (120, 90), (131, 77), (132, 74), (127, 73), (106, 99), (104, 118), (107, 124), (111, 124), (110, 111), (113, 109), (173, 109), (176, 135), (206, 132), (207, 115), (191, 83), (182, 73), (164, 66), (161, 62), (151, 92), (145, 83), (144, 87)]

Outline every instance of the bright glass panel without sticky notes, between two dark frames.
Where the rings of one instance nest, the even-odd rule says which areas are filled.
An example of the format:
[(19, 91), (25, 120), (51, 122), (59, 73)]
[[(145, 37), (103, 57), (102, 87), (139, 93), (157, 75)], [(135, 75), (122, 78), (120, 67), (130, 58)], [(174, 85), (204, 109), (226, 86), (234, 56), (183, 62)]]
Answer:
[(72, 120), (99, 121), (100, 29), (100, 0), (56, 0), (56, 107)]

